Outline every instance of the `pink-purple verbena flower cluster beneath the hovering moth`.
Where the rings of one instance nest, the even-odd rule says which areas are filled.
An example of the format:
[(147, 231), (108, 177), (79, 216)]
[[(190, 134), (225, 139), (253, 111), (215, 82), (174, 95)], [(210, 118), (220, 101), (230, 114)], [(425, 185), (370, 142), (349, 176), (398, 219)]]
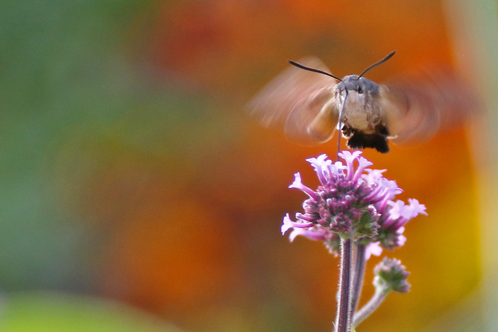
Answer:
[(312, 190), (303, 185), (299, 173), (294, 175), (289, 188), (303, 191), (308, 199), (303, 203), (304, 212), (296, 214), (297, 221), (289, 214), (284, 217), (282, 234), (292, 229), (291, 241), (297, 235), (320, 240), (336, 254), (340, 237), (367, 245), (368, 256), (379, 255), (381, 247), (393, 249), (404, 244), (404, 225), (419, 214), (426, 215), (425, 206), (415, 199), (408, 199), (408, 204), (394, 201), (402, 190), (382, 176), (385, 170), (367, 168), (373, 163), (361, 153), (339, 153), (345, 164), (334, 163), (325, 154), (307, 159), (321, 185)]

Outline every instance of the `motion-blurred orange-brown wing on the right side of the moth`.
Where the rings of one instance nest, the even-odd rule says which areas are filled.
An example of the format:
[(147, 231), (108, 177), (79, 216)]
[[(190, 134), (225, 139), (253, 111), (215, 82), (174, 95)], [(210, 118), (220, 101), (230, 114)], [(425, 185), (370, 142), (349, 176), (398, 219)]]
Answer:
[(449, 72), (380, 86), (380, 109), (394, 143), (427, 141), (480, 108), (476, 95)]

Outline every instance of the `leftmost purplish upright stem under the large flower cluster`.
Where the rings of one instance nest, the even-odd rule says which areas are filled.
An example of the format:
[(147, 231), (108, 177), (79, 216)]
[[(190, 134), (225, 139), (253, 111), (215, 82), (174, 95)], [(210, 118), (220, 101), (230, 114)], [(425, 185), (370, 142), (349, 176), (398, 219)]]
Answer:
[(336, 332), (351, 331), (351, 270), (353, 240), (341, 238), (341, 266), (339, 274), (339, 301)]

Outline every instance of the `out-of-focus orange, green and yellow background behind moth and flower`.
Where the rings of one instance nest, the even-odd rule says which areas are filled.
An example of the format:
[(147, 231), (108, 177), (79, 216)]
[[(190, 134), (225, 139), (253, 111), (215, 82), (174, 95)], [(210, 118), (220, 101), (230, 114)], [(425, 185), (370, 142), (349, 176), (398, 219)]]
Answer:
[(428, 217), (383, 253), (411, 292), (359, 331), (498, 331), (497, 10), (476, 2), (2, 1), (0, 330), (331, 331), (338, 258), (279, 227), (335, 144), (243, 106), (289, 59), (342, 77), (397, 50), (368, 78), (444, 65), (493, 111), (364, 152)]

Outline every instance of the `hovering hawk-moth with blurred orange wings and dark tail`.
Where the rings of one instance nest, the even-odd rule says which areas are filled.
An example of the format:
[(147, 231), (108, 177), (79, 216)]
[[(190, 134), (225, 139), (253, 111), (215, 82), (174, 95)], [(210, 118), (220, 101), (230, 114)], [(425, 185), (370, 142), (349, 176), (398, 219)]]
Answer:
[(459, 121), (472, 111), (472, 95), (449, 72), (385, 85), (364, 77), (394, 53), (361, 75), (343, 79), (330, 74), (317, 58), (289, 61), (293, 66), (249, 102), (249, 111), (264, 126), (283, 127), (289, 139), (301, 144), (326, 142), (338, 129), (349, 148), (374, 148), (382, 153), (389, 152), (387, 139), (427, 140), (441, 125)]

